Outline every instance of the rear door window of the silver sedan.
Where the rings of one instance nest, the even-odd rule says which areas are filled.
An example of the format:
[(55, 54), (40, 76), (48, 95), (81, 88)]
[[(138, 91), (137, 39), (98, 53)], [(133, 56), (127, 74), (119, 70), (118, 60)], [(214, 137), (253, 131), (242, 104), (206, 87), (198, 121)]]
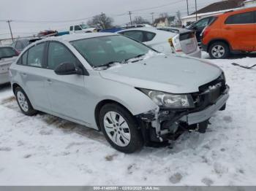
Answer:
[(28, 66), (42, 68), (44, 57), (45, 43), (40, 43), (29, 49)]

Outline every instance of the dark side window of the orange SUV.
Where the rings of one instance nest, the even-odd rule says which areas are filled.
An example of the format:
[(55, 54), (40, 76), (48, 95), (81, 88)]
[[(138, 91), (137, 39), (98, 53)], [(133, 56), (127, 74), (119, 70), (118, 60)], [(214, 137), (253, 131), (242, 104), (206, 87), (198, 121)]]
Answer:
[(244, 12), (237, 15), (231, 15), (227, 17), (225, 24), (235, 25), (235, 24), (250, 24), (255, 23), (254, 12)]

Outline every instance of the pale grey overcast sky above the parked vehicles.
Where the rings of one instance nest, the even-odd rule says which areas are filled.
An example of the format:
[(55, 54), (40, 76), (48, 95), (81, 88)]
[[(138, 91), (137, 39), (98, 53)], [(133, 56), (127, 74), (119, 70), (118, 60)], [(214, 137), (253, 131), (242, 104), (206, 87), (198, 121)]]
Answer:
[[(218, 0), (197, 0), (198, 9), (215, 1)], [(147, 9), (152, 7), (157, 8)], [(92, 17), (100, 12), (113, 17), (116, 25), (124, 25), (129, 22), (129, 10), (132, 11), (132, 17), (142, 16), (151, 21), (151, 12), (155, 12), (154, 17), (157, 17), (161, 12), (176, 15), (179, 10), (185, 16), (187, 3), (186, 0), (0, 0), (0, 20), (13, 20), (11, 26), (14, 36), (29, 36), (45, 29), (67, 30), (70, 24), (86, 23), (87, 20), (58, 21)], [(194, 11), (195, 0), (189, 0), (189, 12)], [(0, 22), (0, 39), (9, 38), (9, 32), (8, 24)]]

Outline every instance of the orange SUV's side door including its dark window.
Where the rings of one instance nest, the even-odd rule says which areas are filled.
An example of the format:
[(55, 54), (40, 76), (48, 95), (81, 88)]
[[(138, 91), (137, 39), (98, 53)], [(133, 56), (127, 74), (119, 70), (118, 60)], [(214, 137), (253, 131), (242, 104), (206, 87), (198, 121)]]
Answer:
[(222, 36), (230, 42), (233, 50), (255, 51), (255, 12), (242, 12), (227, 17)]

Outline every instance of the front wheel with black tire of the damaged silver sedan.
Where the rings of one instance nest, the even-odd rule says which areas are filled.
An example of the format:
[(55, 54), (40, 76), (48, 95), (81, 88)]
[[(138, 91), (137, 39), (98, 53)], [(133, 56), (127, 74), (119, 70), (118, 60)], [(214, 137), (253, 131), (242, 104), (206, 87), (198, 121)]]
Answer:
[(118, 104), (102, 107), (99, 125), (107, 141), (118, 151), (132, 153), (143, 147), (143, 139), (134, 117)]

